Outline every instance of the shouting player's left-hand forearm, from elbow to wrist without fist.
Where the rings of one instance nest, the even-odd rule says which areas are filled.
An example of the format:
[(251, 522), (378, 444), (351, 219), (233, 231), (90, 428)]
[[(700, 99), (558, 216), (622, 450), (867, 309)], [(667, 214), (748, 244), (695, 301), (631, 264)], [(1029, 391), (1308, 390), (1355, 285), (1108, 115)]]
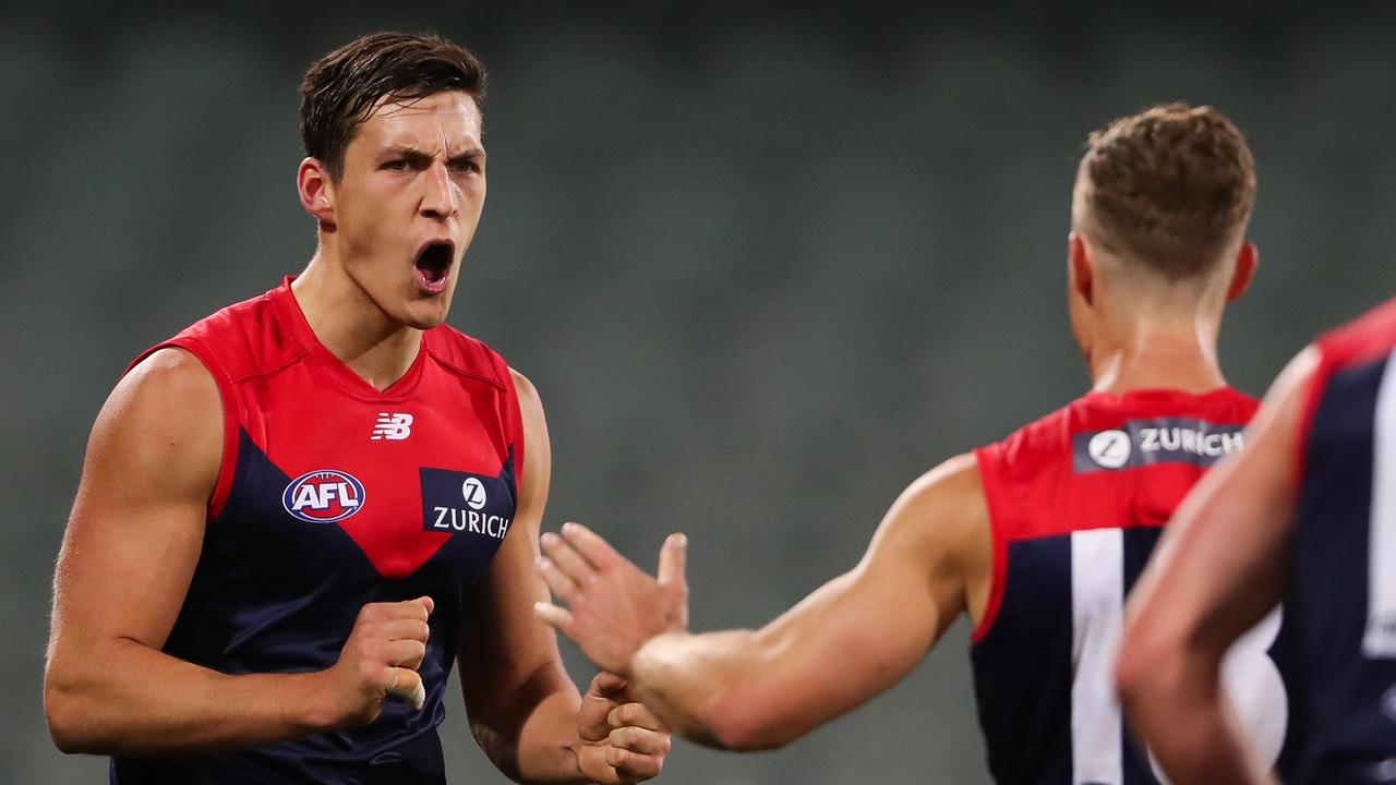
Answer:
[(45, 711), (66, 753), (169, 756), (248, 749), (334, 725), (317, 673), (229, 676), (131, 640), (56, 651)]

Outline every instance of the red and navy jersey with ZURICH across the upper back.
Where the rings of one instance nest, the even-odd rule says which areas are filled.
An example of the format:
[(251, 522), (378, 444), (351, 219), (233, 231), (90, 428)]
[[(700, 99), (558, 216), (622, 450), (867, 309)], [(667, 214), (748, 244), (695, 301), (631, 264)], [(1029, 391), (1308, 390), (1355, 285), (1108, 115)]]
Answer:
[[(970, 658), (997, 782), (1160, 782), (1115, 698), (1125, 595), (1182, 497), (1241, 448), (1256, 405), (1230, 388), (1092, 392), (976, 451), (994, 574)], [(1266, 656), (1279, 626), (1252, 630), (1227, 666), (1272, 760), (1287, 714)]]

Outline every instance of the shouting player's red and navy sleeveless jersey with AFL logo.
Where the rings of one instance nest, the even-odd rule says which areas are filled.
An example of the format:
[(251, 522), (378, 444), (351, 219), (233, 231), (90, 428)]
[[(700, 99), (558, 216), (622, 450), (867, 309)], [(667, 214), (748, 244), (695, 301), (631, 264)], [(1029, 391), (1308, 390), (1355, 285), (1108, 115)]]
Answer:
[(473, 634), (462, 608), (510, 531), (524, 461), (504, 360), (437, 327), (378, 391), (315, 339), (289, 279), (161, 346), (202, 360), (225, 420), (202, 552), (163, 651), (222, 673), (321, 670), (363, 605), (430, 595), (426, 707), (389, 700), (364, 728), (236, 753), (117, 757), (112, 781), (444, 784), (436, 728)]

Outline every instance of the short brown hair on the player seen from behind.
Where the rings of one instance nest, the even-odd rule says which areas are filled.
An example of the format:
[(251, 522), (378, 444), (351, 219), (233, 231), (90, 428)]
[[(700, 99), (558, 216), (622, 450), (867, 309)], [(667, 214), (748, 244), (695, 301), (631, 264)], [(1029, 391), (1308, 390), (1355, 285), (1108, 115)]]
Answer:
[(1154, 106), (1093, 131), (1075, 221), (1104, 250), (1181, 281), (1217, 268), (1245, 233), (1255, 159), (1210, 106)]

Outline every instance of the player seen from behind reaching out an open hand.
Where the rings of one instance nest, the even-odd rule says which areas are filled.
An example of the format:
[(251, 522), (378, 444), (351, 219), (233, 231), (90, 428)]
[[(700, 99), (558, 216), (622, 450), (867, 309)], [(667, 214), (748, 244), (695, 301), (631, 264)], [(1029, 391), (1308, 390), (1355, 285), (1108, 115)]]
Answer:
[[(656, 581), (579, 525), (543, 536), (540, 570), (568, 608), (539, 615), (670, 728), (732, 749), (785, 744), (867, 701), (966, 615), (998, 782), (1156, 782), (1121, 725), (1114, 645), (1164, 522), (1241, 447), (1256, 406), (1216, 359), (1223, 307), (1256, 265), (1254, 197), (1245, 140), (1210, 108), (1157, 106), (1092, 134), (1067, 258), (1086, 395), (913, 482), (857, 567), (761, 630), (685, 630), (683, 538)], [(1242, 673), (1272, 687), (1254, 691), (1273, 717), (1268, 643)]]

